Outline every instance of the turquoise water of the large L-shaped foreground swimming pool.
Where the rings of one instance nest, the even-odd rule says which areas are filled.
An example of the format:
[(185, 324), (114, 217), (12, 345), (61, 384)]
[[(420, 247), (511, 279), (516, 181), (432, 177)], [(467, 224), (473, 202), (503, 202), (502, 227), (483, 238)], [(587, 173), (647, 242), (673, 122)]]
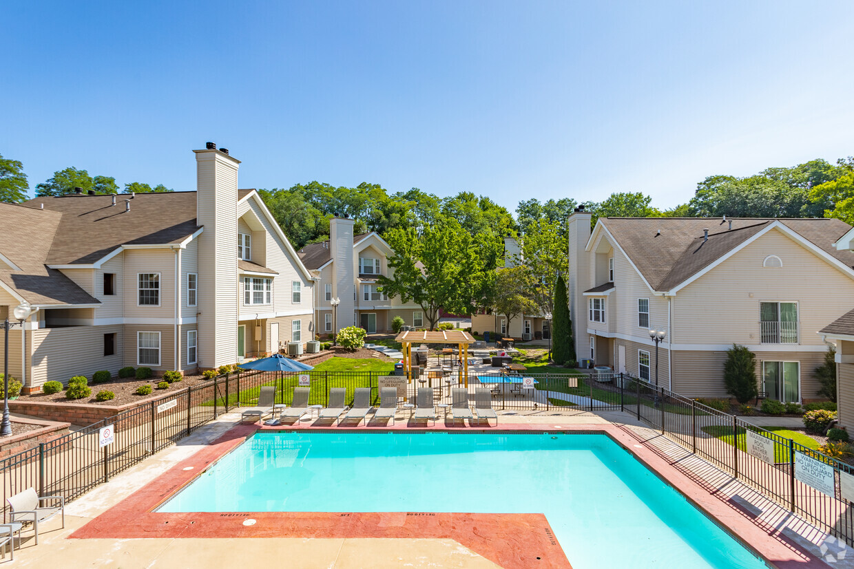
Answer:
[(576, 569), (765, 566), (600, 434), (257, 433), (159, 511), (542, 513)]

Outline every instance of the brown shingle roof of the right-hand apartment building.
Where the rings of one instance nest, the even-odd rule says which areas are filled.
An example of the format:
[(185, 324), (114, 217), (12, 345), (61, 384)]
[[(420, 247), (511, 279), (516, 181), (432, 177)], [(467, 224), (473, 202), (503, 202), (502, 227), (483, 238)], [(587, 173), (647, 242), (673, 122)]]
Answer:
[[(605, 229), (654, 290), (670, 290), (713, 264), (775, 221), (781, 222), (849, 267), (854, 253), (834, 241), (851, 229), (839, 219), (602, 218)], [(704, 241), (703, 229), (709, 229)], [(660, 231), (660, 233), (659, 233)]]

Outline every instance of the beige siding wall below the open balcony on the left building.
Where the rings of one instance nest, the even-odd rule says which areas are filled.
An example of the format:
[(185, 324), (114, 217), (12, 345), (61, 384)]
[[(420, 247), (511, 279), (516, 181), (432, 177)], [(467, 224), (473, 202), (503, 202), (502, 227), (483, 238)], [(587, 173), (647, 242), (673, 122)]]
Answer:
[[(125, 344), (125, 327), (121, 325), (41, 328), (28, 330), (27, 335), (30, 334), (32, 334), (32, 385), (34, 386), (54, 380), (67, 383), (68, 378), (74, 375), (85, 375), (91, 378), (92, 374), (101, 369), (116, 374), (124, 365), (122, 345)], [(104, 357), (103, 355), (104, 334), (117, 334), (116, 351), (113, 356)], [(18, 353), (20, 353), (20, 344)], [(9, 357), (10, 361), (11, 359)]]

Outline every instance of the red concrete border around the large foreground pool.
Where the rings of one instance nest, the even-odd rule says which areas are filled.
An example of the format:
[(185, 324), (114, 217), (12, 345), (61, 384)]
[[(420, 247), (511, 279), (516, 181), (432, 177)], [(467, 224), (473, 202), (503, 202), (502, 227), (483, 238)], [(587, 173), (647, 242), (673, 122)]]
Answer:
[[(558, 421), (555, 421), (559, 423)], [(314, 427), (295, 424), (284, 427), (238, 425), (225, 435), (170, 468), (149, 485), (144, 486), (90, 523), (74, 531), (77, 539), (128, 539), (140, 537), (302, 537), (302, 538), (439, 538), (453, 539), (471, 551), (502, 567), (526, 568), (570, 567), (563, 549), (553, 535), (543, 514), (443, 514), (430, 512), (400, 513), (159, 513), (153, 510), (176, 491), (204, 472), (213, 462), (225, 456), (259, 429), (279, 430), (340, 430), (340, 431), (413, 431), (403, 421), (388, 427)], [(542, 424), (504, 423), (499, 427), (447, 427), (437, 421), (433, 427), (417, 430), (447, 432), (573, 432), (605, 433), (617, 444), (629, 450), (659, 477), (681, 491), (695, 506), (710, 514), (730, 534), (748, 549), (773, 566), (827, 567), (822, 560), (805, 553), (775, 530), (764, 531), (752, 520), (712, 496), (686, 475), (658, 456), (651, 449), (616, 425), (544, 426)], [(188, 468), (184, 470), (184, 468)], [(245, 520), (252, 525), (243, 525)]]

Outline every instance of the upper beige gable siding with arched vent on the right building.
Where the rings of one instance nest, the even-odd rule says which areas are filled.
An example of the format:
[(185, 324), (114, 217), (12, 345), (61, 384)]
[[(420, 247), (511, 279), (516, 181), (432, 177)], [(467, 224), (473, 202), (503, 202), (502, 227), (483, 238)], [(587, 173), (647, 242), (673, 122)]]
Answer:
[[(781, 258), (782, 267), (763, 267), (764, 258), (772, 254)], [(854, 305), (854, 281), (787, 235), (771, 230), (676, 293), (674, 342), (759, 345), (763, 301), (798, 302), (800, 345), (821, 346), (816, 330), (834, 322), (845, 306)]]

